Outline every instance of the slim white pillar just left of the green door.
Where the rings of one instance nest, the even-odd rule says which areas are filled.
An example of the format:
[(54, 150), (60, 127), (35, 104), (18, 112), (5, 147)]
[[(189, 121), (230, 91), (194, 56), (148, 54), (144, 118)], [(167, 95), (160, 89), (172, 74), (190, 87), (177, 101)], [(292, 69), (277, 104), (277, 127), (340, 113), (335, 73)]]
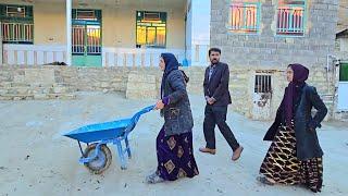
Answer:
[(72, 65), (72, 0), (66, 0), (66, 64)]

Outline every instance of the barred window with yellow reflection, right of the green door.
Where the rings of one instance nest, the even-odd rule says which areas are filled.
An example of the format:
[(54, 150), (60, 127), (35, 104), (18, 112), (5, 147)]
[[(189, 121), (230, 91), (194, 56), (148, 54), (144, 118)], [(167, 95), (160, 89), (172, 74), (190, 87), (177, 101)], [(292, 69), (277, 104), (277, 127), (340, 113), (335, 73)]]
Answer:
[(137, 11), (137, 48), (165, 47), (166, 13)]

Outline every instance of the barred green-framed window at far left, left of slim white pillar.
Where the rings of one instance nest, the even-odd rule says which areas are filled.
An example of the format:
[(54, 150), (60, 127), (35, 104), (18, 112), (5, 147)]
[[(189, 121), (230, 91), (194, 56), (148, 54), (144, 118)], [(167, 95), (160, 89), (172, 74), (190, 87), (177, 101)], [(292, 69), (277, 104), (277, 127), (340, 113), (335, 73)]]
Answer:
[(33, 44), (33, 7), (0, 4), (2, 41), (8, 44)]

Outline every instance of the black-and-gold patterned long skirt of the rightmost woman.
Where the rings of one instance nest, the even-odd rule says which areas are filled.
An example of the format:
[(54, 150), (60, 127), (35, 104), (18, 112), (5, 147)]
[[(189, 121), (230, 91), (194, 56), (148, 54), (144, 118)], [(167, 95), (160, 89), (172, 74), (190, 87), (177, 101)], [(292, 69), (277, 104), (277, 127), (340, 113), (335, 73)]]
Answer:
[(281, 184), (303, 184), (320, 192), (323, 183), (322, 157), (300, 161), (296, 157), (295, 130), (279, 126), (263, 159), (260, 174)]

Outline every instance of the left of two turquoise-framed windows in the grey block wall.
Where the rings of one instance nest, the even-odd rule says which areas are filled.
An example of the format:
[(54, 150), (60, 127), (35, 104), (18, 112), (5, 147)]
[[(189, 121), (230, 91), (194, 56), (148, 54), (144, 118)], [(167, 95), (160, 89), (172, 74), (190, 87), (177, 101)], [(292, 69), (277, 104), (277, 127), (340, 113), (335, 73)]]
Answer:
[(231, 4), (229, 29), (233, 33), (258, 33), (260, 26), (259, 2), (234, 2)]

